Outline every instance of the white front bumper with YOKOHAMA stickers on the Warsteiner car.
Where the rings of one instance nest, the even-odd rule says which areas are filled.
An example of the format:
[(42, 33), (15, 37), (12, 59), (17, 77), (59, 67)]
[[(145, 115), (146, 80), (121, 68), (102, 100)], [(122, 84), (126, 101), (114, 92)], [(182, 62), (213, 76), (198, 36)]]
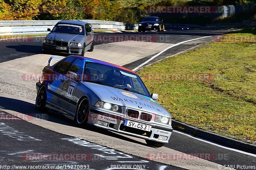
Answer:
[[(151, 129), (150, 131), (145, 131), (125, 126), (125, 120), (141, 123), (144, 125), (150, 125)], [(142, 122), (139, 120), (134, 120), (131, 117), (123, 114), (110, 113), (98, 107), (92, 106), (90, 107), (90, 112), (88, 115), (88, 123), (100, 128), (108, 129), (129, 136), (152, 140), (159, 143), (168, 143), (172, 134), (171, 125), (163, 126), (157, 123), (153, 124), (149, 122)]]

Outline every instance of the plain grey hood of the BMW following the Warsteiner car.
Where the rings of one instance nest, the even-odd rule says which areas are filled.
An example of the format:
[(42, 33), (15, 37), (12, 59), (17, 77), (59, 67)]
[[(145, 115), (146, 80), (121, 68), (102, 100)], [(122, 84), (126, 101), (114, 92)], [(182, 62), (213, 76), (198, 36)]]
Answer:
[(79, 43), (84, 39), (83, 35), (68, 34), (68, 33), (50, 33), (46, 36), (46, 40), (76, 42)]

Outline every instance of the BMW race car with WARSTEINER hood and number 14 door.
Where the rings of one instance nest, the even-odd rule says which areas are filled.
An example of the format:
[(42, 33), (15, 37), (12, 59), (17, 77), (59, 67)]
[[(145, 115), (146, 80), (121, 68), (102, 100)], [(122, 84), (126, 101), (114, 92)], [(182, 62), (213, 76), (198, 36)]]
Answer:
[[(59, 60), (52, 65), (52, 60)], [(59, 111), (79, 126), (87, 123), (145, 139), (161, 147), (172, 134), (171, 115), (132, 70), (70, 55), (51, 57), (36, 83), (36, 109)]]

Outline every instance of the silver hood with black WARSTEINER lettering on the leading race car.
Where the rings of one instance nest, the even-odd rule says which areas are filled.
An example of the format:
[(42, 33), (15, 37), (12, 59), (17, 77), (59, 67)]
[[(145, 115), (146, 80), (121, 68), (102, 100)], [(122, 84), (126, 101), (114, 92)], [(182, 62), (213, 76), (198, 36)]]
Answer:
[(104, 102), (134, 108), (137, 110), (154, 113), (156, 115), (171, 117), (164, 107), (150, 97), (106, 85), (99, 85), (89, 82), (84, 82), (84, 84), (88, 85), (92, 90), (97, 92)]

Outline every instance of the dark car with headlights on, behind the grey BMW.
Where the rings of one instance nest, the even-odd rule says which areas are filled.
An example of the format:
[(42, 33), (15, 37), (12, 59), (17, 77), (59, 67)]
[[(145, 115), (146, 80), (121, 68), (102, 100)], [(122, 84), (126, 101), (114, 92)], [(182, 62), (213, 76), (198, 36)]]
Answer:
[(140, 21), (138, 31), (164, 31), (164, 22), (159, 17), (145, 17)]

